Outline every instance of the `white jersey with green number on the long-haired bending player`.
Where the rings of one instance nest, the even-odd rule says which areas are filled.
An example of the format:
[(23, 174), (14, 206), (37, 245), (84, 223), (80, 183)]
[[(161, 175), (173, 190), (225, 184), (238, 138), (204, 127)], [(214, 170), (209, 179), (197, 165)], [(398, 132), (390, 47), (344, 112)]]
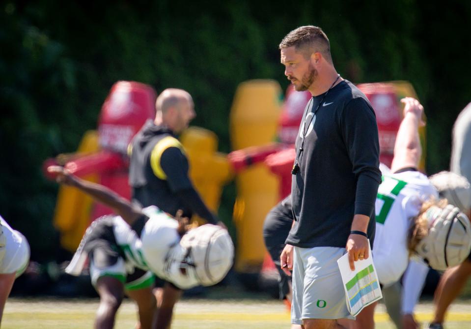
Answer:
[(376, 198), (373, 246), (373, 262), (383, 285), (398, 281), (406, 270), (410, 220), (419, 213), (422, 203), (432, 197), (438, 199), (437, 190), (417, 171), (383, 176)]

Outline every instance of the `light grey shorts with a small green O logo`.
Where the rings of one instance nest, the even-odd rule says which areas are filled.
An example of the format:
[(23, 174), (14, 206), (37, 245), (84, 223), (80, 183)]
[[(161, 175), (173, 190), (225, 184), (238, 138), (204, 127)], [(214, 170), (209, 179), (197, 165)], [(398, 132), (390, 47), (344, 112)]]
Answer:
[(344, 253), (345, 248), (294, 247), (292, 324), (302, 325), (303, 319), (355, 319), (347, 309), (337, 265)]

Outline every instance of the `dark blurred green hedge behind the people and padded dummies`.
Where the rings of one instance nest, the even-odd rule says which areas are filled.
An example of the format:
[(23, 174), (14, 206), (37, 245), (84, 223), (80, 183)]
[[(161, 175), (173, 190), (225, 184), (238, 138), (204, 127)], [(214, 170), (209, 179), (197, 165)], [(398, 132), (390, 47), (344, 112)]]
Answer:
[[(282, 37), (317, 25), (337, 71), (354, 83), (408, 80), (428, 118), (428, 174), (448, 168), (451, 128), (471, 101), (471, 1), (1, 1), (0, 213), (23, 232), (32, 259), (58, 257), (57, 186), (42, 162), (77, 149), (112, 84), (183, 88), (193, 125), (230, 151), (228, 114), (239, 83), (288, 81)], [(220, 216), (229, 222), (234, 187)]]

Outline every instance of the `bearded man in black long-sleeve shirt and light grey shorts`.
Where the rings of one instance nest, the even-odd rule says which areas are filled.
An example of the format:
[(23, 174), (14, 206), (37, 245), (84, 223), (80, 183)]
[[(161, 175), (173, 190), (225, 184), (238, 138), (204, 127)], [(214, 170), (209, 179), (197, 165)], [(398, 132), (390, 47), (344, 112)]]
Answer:
[(345, 248), (352, 269), (369, 256), (381, 182), (378, 127), (366, 96), (337, 74), (320, 28), (293, 30), (279, 48), (295, 89), (312, 94), (296, 141), (295, 220), (280, 257), (286, 272), (293, 269), (291, 322), (343, 328), (336, 319), (350, 314), (336, 261)]

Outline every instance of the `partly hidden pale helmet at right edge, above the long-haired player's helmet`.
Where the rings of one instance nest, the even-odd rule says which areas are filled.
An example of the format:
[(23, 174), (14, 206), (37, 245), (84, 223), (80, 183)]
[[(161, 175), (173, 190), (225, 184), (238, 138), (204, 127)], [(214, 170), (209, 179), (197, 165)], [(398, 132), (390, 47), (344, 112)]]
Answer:
[(450, 204), (465, 213), (471, 209), (471, 185), (468, 179), (449, 171), (442, 171), (430, 176), (429, 180), (440, 196)]

